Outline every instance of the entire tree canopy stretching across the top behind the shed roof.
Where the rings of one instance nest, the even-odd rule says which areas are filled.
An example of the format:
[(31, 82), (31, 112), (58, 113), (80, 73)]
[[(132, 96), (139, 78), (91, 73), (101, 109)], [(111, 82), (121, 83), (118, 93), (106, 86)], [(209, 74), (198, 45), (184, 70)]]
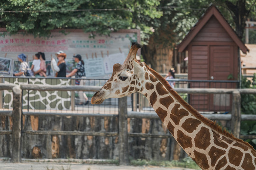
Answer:
[(141, 30), (142, 42), (178, 42), (214, 3), (242, 37), (245, 21), (255, 18), (256, 0), (5, 0), (0, 26), (9, 34), (47, 37), (53, 29), (75, 28), (108, 35), (119, 29)]

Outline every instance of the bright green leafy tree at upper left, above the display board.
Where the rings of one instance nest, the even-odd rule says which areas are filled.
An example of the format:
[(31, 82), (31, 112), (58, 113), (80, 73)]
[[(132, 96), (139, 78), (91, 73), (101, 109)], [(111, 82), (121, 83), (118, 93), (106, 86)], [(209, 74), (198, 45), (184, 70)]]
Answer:
[(0, 3), (0, 26), (9, 34), (23, 30), (34, 36), (64, 28), (92, 36), (128, 28), (149, 34), (150, 19), (162, 15), (158, 5), (159, 0), (6, 0)]

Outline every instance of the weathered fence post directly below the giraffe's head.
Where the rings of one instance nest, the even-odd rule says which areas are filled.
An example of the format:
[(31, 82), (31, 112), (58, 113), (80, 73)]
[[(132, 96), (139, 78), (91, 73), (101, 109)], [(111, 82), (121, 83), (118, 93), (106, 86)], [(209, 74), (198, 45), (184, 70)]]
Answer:
[(119, 164), (128, 165), (127, 97), (119, 98)]

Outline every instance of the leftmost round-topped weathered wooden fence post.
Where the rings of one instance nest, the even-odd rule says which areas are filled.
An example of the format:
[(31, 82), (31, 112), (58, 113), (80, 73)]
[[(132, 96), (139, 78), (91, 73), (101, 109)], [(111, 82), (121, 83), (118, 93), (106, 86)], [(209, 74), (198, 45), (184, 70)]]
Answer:
[(20, 162), (21, 161), (21, 89), (20, 86), (16, 85), (12, 88), (13, 93), (13, 111), (12, 111), (12, 153), (11, 161)]

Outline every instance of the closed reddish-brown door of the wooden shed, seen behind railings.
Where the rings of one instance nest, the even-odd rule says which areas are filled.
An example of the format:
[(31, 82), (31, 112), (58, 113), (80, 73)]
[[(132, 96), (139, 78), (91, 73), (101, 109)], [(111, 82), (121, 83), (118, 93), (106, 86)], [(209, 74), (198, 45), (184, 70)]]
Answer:
[[(210, 79), (228, 80), (235, 76), (233, 46), (210, 46)], [(210, 83), (210, 88), (234, 88), (231, 83)], [(210, 110), (230, 110), (230, 94), (210, 94)]]

